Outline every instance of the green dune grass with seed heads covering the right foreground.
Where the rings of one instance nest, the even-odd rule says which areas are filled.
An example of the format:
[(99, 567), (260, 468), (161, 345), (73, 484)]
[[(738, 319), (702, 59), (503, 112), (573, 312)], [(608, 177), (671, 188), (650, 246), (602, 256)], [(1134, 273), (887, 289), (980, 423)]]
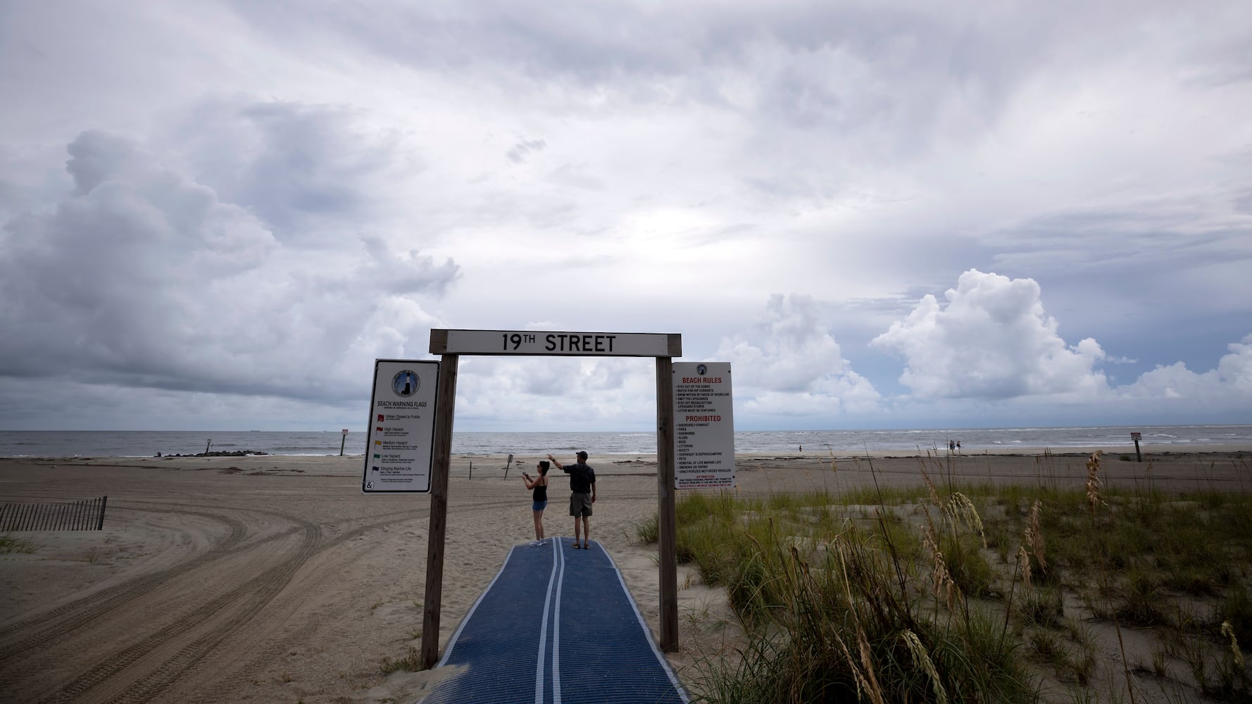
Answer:
[[(1099, 462), (1068, 490), (936, 485), (923, 462), (905, 490), (685, 492), (679, 561), (746, 633), (701, 660), (696, 701), (1249, 700), (1252, 496), (1106, 491)], [(1101, 678), (1106, 626), (1121, 661)]]

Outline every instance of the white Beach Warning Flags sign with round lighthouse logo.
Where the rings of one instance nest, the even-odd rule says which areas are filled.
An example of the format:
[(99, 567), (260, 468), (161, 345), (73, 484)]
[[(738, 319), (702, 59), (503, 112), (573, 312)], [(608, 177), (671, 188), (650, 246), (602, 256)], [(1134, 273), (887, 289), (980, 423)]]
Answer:
[(362, 494), (429, 494), (438, 378), (438, 362), (374, 360)]

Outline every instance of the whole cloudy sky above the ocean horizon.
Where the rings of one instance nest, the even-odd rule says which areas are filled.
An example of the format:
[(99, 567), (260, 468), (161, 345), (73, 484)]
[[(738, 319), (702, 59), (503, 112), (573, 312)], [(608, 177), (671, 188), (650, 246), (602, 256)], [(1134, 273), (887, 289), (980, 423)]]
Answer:
[[(1244, 0), (0, 3), (0, 430), (363, 430), (429, 331), (736, 430), (1252, 422)], [(456, 431), (647, 430), (462, 356)]]

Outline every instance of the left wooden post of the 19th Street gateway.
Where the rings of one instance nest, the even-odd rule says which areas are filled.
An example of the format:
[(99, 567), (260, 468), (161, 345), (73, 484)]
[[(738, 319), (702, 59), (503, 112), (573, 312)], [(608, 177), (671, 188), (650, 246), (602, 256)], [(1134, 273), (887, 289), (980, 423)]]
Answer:
[(448, 516), (448, 472), (452, 463), (452, 417), (457, 400), (457, 355), (443, 355), (434, 397), (431, 529), (426, 540), (426, 601), (422, 604), (422, 669), (439, 659), (439, 599), (443, 594), (443, 537)]

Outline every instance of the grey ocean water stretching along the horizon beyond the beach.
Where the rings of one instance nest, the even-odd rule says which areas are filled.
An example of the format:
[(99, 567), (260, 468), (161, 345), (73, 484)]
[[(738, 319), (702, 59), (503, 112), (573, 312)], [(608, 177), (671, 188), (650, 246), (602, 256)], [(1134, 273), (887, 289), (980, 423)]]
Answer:
[[(1201, 451), (1206, 445), (1252, 446), (1252, 425), (1209, 426), (1093, 426), (1015, 428), (918, 428), (918, 430), (805, 430), (737, 431), (736, 452), (938, 450), (949, 440), (960, 441), (964, 452), (983, 448), (1035, 447), (1064, 451), (1067, 447), (1133, 450), (1131, 432), (1142, 433), (1144, 451)], [(308, 432), (268, 431), (0, 431), (0, 457), (151, 457), (194, 455), (209, 451), (254, 451), (269, 455), (363, 456), (366, 432), (338, 430)], [(654, 455), (656, 433), (623, 432), (454, 432), (452, 452), (458, 456), (571, 455), (586, 450), (602, 455)]]

